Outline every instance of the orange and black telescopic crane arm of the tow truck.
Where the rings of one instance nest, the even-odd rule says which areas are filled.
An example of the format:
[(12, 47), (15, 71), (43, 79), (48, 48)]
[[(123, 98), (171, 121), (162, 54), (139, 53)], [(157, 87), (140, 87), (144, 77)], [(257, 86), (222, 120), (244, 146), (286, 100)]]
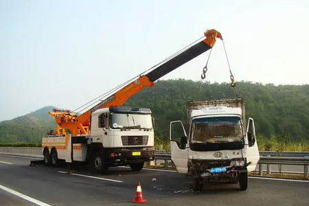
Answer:
[[(165, 76), (165, 74), (170, 73), (174, 69), (180, 67), (203, 54), (207, 50), (211, 49), (216, 43), (216, 38), (220, 38), (222, 40), (222, 36), (220, 32), (216, 30), (207, 30), (205, 33), (205, 39), (192, 45), (185, 51), (180, 54), (170, 58), (170, 60), (163, 62), (163, 64), (159, 65), (157, 68), (152, 69), (152, 71), (146, 73), (145, 75), (139, 76), (137, 80), (133, 80), (124, 88), (120, 89), (113, 95), (110, 95), (108, 98), (100, 102), (99, 104), (93, 106), (93, 108), (89, 109), (85, 113), (80, 116), (76, 116), (73, 113), (66, 112), (50, 112), (49, 114), (53, 115), (56, 119), (56, 123), (60, 128), (62, 128), (62, 133), (65, 133), (64, 129), (71, 130), (72, 135), (79, 134), (88, 134), (90, 128), (90, 118), (91, 113), (96, 111), (99, 108), (105, 108), (110, 106), (121, 106), (130, 98), (130, 96), (138, 93), (142, 89), (146, 87), (155, 86), (155, 81)], [(60, 128), (57, 127), (57, 134), (60, 134)]]

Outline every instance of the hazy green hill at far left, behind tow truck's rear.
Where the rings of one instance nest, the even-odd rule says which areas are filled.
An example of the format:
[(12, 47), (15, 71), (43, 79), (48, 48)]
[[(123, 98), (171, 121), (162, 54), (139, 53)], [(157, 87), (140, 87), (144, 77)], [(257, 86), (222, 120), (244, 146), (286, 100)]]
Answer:
[(54, 106), (0, 122), (0, 143), (39, 142), (49, 130), (55, 130), (55, 118), (48, 114)]

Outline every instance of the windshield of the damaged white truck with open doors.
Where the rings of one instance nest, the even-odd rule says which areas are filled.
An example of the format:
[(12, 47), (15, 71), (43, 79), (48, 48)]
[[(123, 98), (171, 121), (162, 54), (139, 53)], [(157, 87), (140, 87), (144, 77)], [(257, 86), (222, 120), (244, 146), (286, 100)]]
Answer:
[(192, 143), (242, 141), (240, 117), (203, 117), (193, 119)]

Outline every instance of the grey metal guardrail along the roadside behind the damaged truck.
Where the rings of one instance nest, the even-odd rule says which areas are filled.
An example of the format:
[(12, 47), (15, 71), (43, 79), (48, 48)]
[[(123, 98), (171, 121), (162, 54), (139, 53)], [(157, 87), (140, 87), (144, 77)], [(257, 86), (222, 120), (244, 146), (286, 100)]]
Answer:
[[(288, 155), (290, 152), (284, 152)], [(309, 165), (309, 157), (300, 155), (306, 155), (309, 152), (293, 152), (295, 155), (293, 157), (271, 157), (267, 152), (260, 152), (260, 161), (259, 161), (259, 172), (260, 175), (263, 175), (263, 165), (267, 165), (267, 174), (271, 174), (271, 165), (304, 165), (304, 178), (308, 178), (308, 165)], [(273, 155), (277, 152), (273, 153)], [(264, 157), (262, 155), (268, 155)], [(171, 160), (170, 152), (156, 151), (155, 159), (162, 159), (165, 161), (165, 167), (167, 167), (167, 161)], [(281, 167), (281, 166), (280, 166)]]

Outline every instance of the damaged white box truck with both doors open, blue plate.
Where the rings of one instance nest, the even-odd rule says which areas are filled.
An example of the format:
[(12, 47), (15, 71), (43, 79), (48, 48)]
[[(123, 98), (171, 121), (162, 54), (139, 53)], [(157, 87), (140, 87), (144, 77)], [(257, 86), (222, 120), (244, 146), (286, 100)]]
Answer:
[(242, 98), (187, 103), (189, 135), (181, 121), (170, 122), (171, 157), (179, 173), (193, 177), (196, 191), (204, 183), (238, 183), (247, 190), (248, 172), (260, 159), (255, 126), (245, 130)]

